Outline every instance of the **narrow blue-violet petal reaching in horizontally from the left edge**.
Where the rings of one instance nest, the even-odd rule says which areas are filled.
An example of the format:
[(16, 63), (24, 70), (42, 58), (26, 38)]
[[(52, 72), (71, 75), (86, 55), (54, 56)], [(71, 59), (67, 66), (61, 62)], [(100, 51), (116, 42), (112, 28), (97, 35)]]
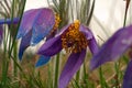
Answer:
[(11, 19), (0, 19), (0, 24), (15, 24), (15, 23), (19, 23), (20, 21), (20, 18), (13, 18), (13, 20)]

